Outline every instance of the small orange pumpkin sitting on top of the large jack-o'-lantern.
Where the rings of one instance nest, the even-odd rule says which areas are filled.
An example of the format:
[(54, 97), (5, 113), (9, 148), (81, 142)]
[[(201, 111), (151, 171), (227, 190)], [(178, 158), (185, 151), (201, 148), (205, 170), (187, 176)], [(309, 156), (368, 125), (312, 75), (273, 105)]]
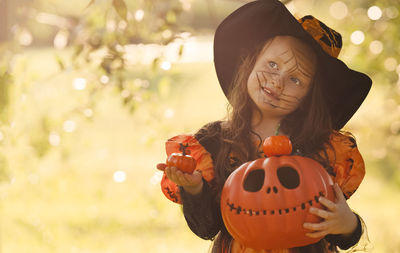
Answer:
[(284, 135), (270, 136), (265, 138), (263, 142), (263, 151), (268, 157), (290, 155), (292, 153), (292, 142)]

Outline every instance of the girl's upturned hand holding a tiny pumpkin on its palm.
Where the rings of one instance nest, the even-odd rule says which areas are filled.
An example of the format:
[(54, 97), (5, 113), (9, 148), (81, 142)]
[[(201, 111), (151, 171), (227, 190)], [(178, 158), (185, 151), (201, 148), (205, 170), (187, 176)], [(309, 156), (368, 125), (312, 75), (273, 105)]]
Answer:
[(167, 167), (164, 163), (157, 164), (157, 169), (165, 171), (169, 180), (182, 186), (186, 192), (192, 195), (199, 194), (203, 189), (202, 175), (198, 170), (193, 171), (193, 174), (188, 174), (176, 167)]

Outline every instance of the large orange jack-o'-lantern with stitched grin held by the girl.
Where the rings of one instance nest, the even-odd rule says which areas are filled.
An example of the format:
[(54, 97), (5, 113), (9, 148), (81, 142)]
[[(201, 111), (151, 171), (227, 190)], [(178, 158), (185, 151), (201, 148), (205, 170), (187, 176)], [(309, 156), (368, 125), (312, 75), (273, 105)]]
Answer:
[(222, 218), (232, 237), (250, 248), (309, 245), (321, 239), (305, 235), (309, 232), (303, 228), (305, 222), (321, 221), (309, 208), (323, 208), (320, 196), (334, 200), (332, 186), (329, 174), (312, 159), (290, 155), (260, 158), (243, 164), (228, 177), (221, 195)]

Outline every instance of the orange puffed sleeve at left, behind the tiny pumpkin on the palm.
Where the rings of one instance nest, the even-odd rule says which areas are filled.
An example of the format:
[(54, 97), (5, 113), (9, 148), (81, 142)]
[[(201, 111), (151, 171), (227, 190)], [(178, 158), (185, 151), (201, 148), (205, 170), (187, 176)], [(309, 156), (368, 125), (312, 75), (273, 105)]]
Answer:
[[(178, 135), (169, 139), (165, 143), (167, 157), (172, 153), (181, 153), (179, 150), (181, 144), (187, 146), (186, 150), (190, 151), (190, 155), (196, 160), (196, 170), (201, 171), (203, 178), (210, 182), (214, 178), (214, 164), (211, 154), (193, 135)], [(179, 187), (168, 179), (165, 172), (161, 179), (161, 190), (169, 200), (182, 204)]]

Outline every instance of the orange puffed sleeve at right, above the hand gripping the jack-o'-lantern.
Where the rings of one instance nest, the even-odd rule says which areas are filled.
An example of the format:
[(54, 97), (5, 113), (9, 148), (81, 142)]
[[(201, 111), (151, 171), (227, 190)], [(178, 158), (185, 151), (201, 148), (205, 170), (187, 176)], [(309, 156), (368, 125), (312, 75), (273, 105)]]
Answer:
[(352, 136), (335, 132), (330, 141), (334, 150), (328, 148), (329, 160), (335, 173), (333, 180), (338, 183), (346, 198), (350, 198), (364, 178), (364, 160)]

